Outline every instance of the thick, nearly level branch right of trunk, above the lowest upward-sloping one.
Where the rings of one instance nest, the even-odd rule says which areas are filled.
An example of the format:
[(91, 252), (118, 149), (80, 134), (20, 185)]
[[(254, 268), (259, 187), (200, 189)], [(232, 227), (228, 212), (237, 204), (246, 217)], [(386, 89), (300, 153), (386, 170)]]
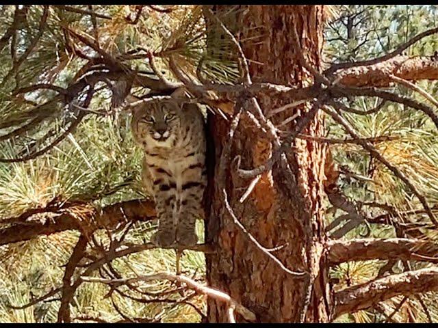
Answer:
[(411, 238), (363, 238), (329, 241), (330, 265), (347, 261), (419, 260), (438, 263), (438, 244)]

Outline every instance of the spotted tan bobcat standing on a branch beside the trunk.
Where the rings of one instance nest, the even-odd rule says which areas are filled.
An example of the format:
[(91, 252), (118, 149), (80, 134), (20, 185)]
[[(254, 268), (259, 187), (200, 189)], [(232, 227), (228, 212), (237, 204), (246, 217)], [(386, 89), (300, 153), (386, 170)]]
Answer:
[(142, 182), (155, 199), (157, 246), (197, 243), (196, 218), (203, 218), (205, 129), (201, 111), (181, 100), (142, 102), (133, 109), (131, 128), (144, 150)]

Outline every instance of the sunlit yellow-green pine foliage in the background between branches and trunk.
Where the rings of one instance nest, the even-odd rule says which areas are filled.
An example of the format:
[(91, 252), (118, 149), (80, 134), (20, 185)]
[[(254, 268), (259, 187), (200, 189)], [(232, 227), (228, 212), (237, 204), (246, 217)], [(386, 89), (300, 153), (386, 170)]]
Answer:
[[(81, 44), (81, 36), (99, 40), (107, 53), (132, 69), (143, 71), (145, 76), (153, 72), (139, 47), (153, 49), (155, 53), (179, 53), (190, 69), (193, 69), (190, 63), (206, 56), (207, 42), (202, 13), (196, 6), (181, 5), (172, 10), (162, 7), (144, 8), (138, 18), (135, 5), (92, 5), (92, 8), (90, 5), (74, 6), (83, 12), (67, 10), (66, 7), (51, 5), (46, 13), (42, 5), (29, 6), (25, 25), (10, 40), (16, 43), (12, 57), (10, 42), (0, 40), (1, 159), (25, 156), (28, 152), (42, 149), (60, 131), (68, 129), (70, 118), (67, 115), (55, 115), (63, 107), (50, 101), (57, 96), (57, 90), (42, 89), (27, 93), (17, 90), (35, 83), (67, 87), (77, 79), (86, 62), (82, 57), (87, 57), (91, 52), (90, 47)], [(15, 9), (14, 5), (1, 5), (0, 36), (8, 33), (16, 19)], [(99, 12), (102, 17), (90, 16), (86, 13), (88, 10)], [(334, 12), (324, 27), (324, 60), (327, 67), (333, 62), (370, 59), (388, 53), (394, 46), (424, 29), (437, 27), (438, 19), (437, 5), (337, 5)], [(44, 14), (48, 15), (44, 21), (44, 33), (38, 36)], [(105, 16), (112, 19), (105, 19)], [(138, 19), (138, 22), (129, 23), (127, 17), (132, 21)], [(93, 29), (97, 23), (99, 29)], [(70, 46), (76, 44), (75, 54), (66, 50), (63, 41), (66, 30), (61, 27), (72, 31)], [(93, 35), (93, 31), (98, 31), (95, 33), (99, 35)], [(79, 35), (76, 38), (75, 33)], [(36, 36), (38, 42), (32, 44)], [(433, 55), (437, 42), (436, 35), (424, 38), (409, 47), (407, 55)], [(30, 46), (33, 49), (30, 54), (26, 54)], [(171, 74), (166, 70), (167, 63), (158, 56), (156, 61), (162, 74), (172, 81)], [(222, 81), (232, 81), (237, 76), (237, 66), (233, 62), (220, 61), (218, 58), (206, 58), (205, 62), (204, 74), (214, 75)], [(99, 66), (99, 63), (95, 64)], [(437, 94), (435, 81), (420, 81), (417, 85), (429, 94)], [(30, 208), (47, 206), (53, 200), (90, 202), (94, 208), (99, 209), (117, 202), (147, 197), (140, 184), (142, 152), (133, 143), (129, 130), (129, 112), (114, 109), (111, 94), (104, 83), (95, 87), (96, 94), (88, 111), (96, 115), (86, 115), (74, 133), (68, 133), (66, 139), (35, 159), (20, 163), (0, 163), (0, 226), (8, 227), (9, 218), (18, 217)], [(391, 89), (424, 101), (424, 98), (403, 85)], [(134, 87), (133, 94), (141, 96), (142, 87)], [(350, 105), (364, 111), (377, 105), (370, 98), (362, 97), (352, 98), (350, 102)], [(44, 105), (39, 106), (41, 104)], [(35, 106), (39, 106), (40, 113), (47, 113), (47, 116), (42, 118), (37, 115)], [(374, 143), (374, 146), (409, 176), (430, 204), (438, 204), (438, 138), (432, 122), (422, 113), (405, 109), (402, 105), (385, 103), (383, 106), (383, 110), (372, 115), (350, 113), (346, 118), (364, 137), (386, 136), (381, 142)], [(75, 108), (71, 111), (74, 114)], [(38, 131), (29, 137), (8, 139), (5, 136), (11, 132), (12, 120), (15, 121), (14, 126), (17, 123), (35, 124)], [(333, 123), (331, 118), (326, 119), (326, 124), (326, 137), (346, 137), (343, 129)], [(415, 213), (417, 200), (406, 193), (402, 182), (386, 167), (373, 161), (368, 152), (352, 143), (333, 143), (330, 148), (333, 159), (342, 163), (339, 166), (342, 173), (339, 186), (345, 195), (360, 200), (357, 206), (363, 208), (370, 217), (378, 217), (382, 213), (378, 204), (387, 204), (398, 213), (406, 215)], [(329, 204), (326, 205), (327, 218), (331, 222), (339, 213), (335, 213)], [(80, 221), (81, 215), (86, 213), (78, 210), (75, 215)], [(391, 226), (360, 223), (352, 226), (349, 231), (339, 231), (337, 223), (329, 225), (332, 228), (329, 234), (342, 238), (394, 236)], [(127, 243), (142, 244), (149, 240), (156, 223), (137, 222), (129, 228), (126, 235), (123, 235), (125, 230), (120, 230), (115, 236), (123, 236)], [(422, 230), (422, 233), (428, 234), (430, 238), (438, 237), (433, 229)], [(198, 222), (198, 236), (203, 236), (201, 222)], [(57, 320), (57, 310), (60, 307), (57, 296), (24, 309), (14, 309), (11, 305), (25, 305), (34, 297), (57, 288), (64, 275), (62, 266), (68, 261), (78, 238), (79, 232), (64, 231), (0, 246), (0, 322), (52, 323)], [(94, 238), (98, 245), (107, 243), (105, 231), (94, 234)], [(175, 272), (175, 261), (175, 251), (172, 249), (149, 249), (118, 258), (112, 262), (112, 266), (115, 271), (128, 276), (157, 271)], [(333, 286), (340, 289), (366, 282), (370, 277), (378, 275), (383, 263), (372, 260), (339, 264), (330, 273)], [(395, 264), (394, 267), (391, 265), (393, 272), (403, 271), (402, 262), (392, 264)], [(202, 283), (205, 279), (204, 254), (200, 251), (185, 251), (181, 258), (181, 272)], [(96, 276), (99, 276), (98, 273)], [(170, 285), (170, 282), (155, 281), (143, 288), (151, 295), (164, 295), (163, 292), (169, 290)], [(83, 322), (94, 318), (115, 322), (127, 316), (187, 323), (199, 322), (202, 312), (205, 313), (205, 296), (196, 293), (185, 292), (184, 301), (181, 302), (175, 301), (181, 299), (181, 295), (169, 296), (162, 301), (151, 297), (148, 301), (147, 297), (139, 300), (139, 296), (131, 291), (125, 291), (130, 293), (129, 297), (120, 292), (113, 292), (109, 297), (109, 291), (110, 287), (105, 284), (81, 284), (72, 299), (72, 320)], [(422, 297), (394, 297), (379, 303), (373, 310), (345, 314), (336, 321), (437, 322), (437, 301), (434, 292)]]

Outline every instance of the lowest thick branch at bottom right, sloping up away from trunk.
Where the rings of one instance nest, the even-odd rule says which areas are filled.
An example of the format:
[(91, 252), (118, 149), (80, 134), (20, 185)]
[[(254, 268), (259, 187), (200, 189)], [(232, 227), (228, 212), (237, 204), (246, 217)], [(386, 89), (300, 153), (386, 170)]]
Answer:
[(357, 312), (398, 295), (411, 296), (438, 291), (438, 268), (389, 275), (335, 293), (335, 314)]

